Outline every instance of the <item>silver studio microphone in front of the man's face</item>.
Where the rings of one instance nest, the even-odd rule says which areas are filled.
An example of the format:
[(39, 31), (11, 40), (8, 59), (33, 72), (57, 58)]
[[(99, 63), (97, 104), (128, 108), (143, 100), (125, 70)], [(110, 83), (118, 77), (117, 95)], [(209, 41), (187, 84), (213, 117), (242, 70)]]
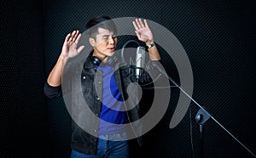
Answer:
[(145, 48), (137, 47), (136, 52), (136, 78), (139, 79), (142, 76), (143, 68), (145, 65)]

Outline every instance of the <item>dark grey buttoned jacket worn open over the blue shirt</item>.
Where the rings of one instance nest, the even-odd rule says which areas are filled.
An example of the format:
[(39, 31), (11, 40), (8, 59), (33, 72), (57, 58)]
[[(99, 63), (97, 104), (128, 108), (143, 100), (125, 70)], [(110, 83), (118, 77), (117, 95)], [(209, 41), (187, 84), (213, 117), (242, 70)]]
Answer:
[[(153, 63), (154, 61), (151, 61), (146, 66), (147, 72), (152, 72), (150, 73), (151, 77), (158, 74)], [(123, 65), (119, 60), (114, 60), (112, 65), (115, 67), (114, 78), (119, 92), (126, 100), (128, 121), (137, 121), (140, 118), (140, 106), (137, 100), (139, 91), (137, 87), (128, 87), (131, 82), (135, 82), (135, 70), (128, 65)], [(141, 82), (152, 82), (151, 77), (145, 75)], [(65, 86), (63, 87), (63, 85)], [(85, 62), (74, 60), (68, 63), (62, 76), (62, 87), (50, 87), (46, 83), (44, 93), (49, 98), (63, 95), (67, 110), (73, 118), (72, 149), (81, 153), (95, 154), (99, 120), (93, 118), (99, 116), (101, 112), (102, 73), (96, 71), (90, 57)], [(135, 106), (135, 104), (137, 105)], [(133, 106), (133, 108), (129, 106)], [(128, 126), (127, 130), (129, 137), (137, 138), (138, 144), (141, 145), (142, 124), (138, 121), (138, 123)]]

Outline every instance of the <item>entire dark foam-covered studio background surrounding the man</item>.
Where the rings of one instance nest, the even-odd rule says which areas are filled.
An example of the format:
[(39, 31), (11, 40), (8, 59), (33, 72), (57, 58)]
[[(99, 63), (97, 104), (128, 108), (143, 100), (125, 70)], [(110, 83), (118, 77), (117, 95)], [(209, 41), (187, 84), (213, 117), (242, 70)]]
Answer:
[[(0, 156), (70, 157), (71, 118), (63, 99), (45, 98), (44, 82), (67, 33), (84, 31), (86, 21), (98, 14), (140, 17), (172, 31), (192, 65), (194, 99), (255, 154), (255, 4), (1, 1)], [(169, 75), (177, 78), (172, 58), (163, 51), (161, 55)], [(199, 130), (194, 119), (199, 109), (195, 104), (177, 127), (168, 127), (178, 93), (172, 88), (166, 115), (145, 135), (144, 157), (199, 157)], [(252, 157), (212, 120), (205, 124), (204, 138), (206, 157)]]

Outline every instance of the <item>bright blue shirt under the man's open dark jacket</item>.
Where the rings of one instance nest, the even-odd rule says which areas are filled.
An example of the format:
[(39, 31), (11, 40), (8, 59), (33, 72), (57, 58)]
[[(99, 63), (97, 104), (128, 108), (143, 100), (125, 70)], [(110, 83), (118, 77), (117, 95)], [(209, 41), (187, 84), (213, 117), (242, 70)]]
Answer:
[[(125, 105), (113, 76), (113, 67), (107, 64), (97, 67), (102, 71), (102, 110), (98, 134), (121, 133), (125, 131)], [(115, 126), (119, 124), (120, 126)]]

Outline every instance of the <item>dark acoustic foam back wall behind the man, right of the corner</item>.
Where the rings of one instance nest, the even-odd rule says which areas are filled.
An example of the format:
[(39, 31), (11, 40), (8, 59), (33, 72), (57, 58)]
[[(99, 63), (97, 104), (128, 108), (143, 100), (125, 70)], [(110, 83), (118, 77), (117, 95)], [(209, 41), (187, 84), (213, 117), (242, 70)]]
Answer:
[[(193, 97), (231, 133), (255, 152), (255, 2), (253, 1), (44, 1), (46, 74), (55, 65), (67, 33), (84, 31), (87, 20), (98, 14), (113, 18), (141, 17), (165, 26), (182, 43), (194, 75)], [(253, 26), (254, 25), (254, 26)], [(166, 39), (168, 40), (168, 39)], [(122, 42), (120, 41), (119, 47)], [(163, 50), (161, 50), (162, 52)], [(170, 56), (161, 53), (168, 73), (177, 71)], [(189, 112), (174, 129), (169, 123), (177, 104), (177, 88), (166, 115), (145, 136), (142, 155), (148, 157), (198, 157), (200, 141), (191, 104)], [(48, 100), (51, 155), (70, 156), (70, 116), (62, 99)], [(64, 151), (64, 152), (63, 152)], [(214, 121), (205, 125), (206, 157), (251, 157)]]

